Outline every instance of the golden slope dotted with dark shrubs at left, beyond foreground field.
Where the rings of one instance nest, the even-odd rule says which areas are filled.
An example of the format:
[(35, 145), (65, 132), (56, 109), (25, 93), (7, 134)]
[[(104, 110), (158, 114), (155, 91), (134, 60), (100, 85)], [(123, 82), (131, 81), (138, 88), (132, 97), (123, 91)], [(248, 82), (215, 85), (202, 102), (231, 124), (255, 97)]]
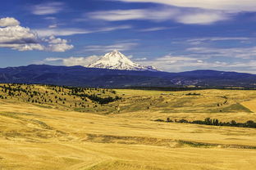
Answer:
[[(9, 90), (8, 87), (11, 87), (12, 89)], [(21, 91), (15, 91), (17, 87), (19, 87)], [(25, 90), (27, 92), (23, 92), (22, 90)], [(10, 92), (13, 93), (13, 95), (10, 95)], [(75, 93), (75, 95), (80, 94), (95, 94), (102, 98), (106, 98), (108, 96), (117, 96), (110, 89), (94, 88), (88, 88), (83, 90), (83, 92)], [(0, 84), (0, 96), (2, 96), (3, 98), (7, 97), (7, 101), (22, 101), (43, 108), (55, 108), (58, 110), (76, 110), (89, 113), (106, 114), (113, 110), (112, 107), (110, 107), (109, 105), (100, 105), (87, 97), (80, 97), (75, 95), (72, 94), (71, 89), (66, 87)]]

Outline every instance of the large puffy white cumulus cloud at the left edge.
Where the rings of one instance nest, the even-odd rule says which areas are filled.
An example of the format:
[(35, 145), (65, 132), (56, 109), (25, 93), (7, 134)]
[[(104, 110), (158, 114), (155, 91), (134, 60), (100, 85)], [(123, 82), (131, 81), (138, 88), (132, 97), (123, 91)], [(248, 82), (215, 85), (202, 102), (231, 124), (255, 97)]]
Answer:
[(73, 48), (65, 39), (61, 38), (39, 38), (36, 32), (22, 27), (19, 21), (10, 18), (0, 19), (0, 47), (8, 47), (18, 51), (66, 51)]

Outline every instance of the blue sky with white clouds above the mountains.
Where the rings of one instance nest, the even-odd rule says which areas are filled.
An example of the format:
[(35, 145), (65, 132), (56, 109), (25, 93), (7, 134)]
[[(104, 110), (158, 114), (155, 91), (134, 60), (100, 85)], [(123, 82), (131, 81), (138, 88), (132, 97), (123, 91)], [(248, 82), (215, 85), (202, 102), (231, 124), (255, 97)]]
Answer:
[(0, 11), (0, 67), (88, 65), (117, 49), (170, 72), (256, 74), (254, 0), (3, 0)]

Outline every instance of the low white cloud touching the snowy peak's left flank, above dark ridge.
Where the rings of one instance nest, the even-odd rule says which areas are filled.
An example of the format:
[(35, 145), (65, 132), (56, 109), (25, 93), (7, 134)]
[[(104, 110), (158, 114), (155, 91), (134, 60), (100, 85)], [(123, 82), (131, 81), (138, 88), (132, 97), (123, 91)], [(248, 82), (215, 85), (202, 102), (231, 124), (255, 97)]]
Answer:
[(46, 58), (41, 63), (52, 64), (53, 62), (58, 61), (59, 65), (66, 65), (66, 66), (82, 65), (82, 66), (87, 66), (91, 63), (94, 63), (99, 58), (100, 58), (100, 56), (87, 56), (87, 57), (71, 56), (69, 58)]

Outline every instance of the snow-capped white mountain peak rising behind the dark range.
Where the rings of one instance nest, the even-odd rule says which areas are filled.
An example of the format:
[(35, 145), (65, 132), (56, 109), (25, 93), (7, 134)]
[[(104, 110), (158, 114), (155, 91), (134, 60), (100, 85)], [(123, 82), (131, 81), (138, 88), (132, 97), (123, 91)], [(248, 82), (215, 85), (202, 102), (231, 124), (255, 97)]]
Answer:
[(144, 66), (134, 63), (121, 52), (115, 50), (105, 54), (95, 63), (87, 65), (89, 68), (99, 69), (122, 69), (122, 70), (138, 70), (138, 71), (158, 71), (153, 66)]

